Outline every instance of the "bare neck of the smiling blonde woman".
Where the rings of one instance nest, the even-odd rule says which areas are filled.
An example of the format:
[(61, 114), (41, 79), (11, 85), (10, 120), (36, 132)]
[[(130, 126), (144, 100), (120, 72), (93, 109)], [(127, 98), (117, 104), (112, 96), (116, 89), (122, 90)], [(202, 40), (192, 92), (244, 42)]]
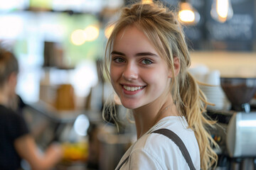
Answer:
[(134, 114), (138, 139), (162, 118), (178, 115), (171, 95), (167, 96), (164, 102), (156, 100), (146, 106), (136, 108), (132, 112)]

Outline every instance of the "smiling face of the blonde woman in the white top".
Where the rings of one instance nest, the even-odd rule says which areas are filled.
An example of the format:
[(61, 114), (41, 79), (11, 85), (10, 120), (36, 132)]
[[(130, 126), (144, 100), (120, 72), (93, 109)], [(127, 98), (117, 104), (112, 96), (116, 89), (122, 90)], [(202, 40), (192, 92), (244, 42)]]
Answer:
[(164, 96), (171, 72), (137, 27), (119, 31), (111, 54), (111, 83), (124, 107), (139, 108)]

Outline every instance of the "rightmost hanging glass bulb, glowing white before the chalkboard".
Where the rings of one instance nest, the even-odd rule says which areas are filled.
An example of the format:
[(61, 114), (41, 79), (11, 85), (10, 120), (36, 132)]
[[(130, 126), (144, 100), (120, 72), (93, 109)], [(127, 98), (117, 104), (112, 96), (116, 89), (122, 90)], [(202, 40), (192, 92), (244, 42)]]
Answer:
[(233, 8), (230, 0), (213, 0), (210, 15), (220, 23), (228, 21), (233, 17)]

